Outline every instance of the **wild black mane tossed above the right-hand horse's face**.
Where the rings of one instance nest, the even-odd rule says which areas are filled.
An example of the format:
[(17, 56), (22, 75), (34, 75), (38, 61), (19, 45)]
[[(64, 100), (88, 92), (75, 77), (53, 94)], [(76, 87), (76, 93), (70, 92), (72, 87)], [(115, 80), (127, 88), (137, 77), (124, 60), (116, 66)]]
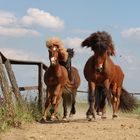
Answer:
[(112, 41), (112, 37), (105, 31), (98, 31), (91, 34), (82, 43), (82, 47), (90, 47), (94, 52), (98, 49), (107, 50), (109, 55), (115, 55), (115, 47)]

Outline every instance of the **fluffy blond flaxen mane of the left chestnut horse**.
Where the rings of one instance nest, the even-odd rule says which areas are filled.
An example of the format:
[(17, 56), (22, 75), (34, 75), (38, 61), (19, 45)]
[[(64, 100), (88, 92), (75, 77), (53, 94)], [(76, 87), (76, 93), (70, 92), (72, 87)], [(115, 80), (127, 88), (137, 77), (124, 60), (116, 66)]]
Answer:
[(68, 59), (68, 52), (67, 52), (67, 49), (64, 48), (64, 45), (62, 43), (62, 41), (57, 38), (57, 37), (52, 37), (52, 38), (49, 38), (47, 41), (46, 41), (46, 47), (50, 48), (52, 46), (57, 46), (58, 49), (59, 49), (59, 52), (60, 52), (60, 60), (66, 62), (67, 59)]

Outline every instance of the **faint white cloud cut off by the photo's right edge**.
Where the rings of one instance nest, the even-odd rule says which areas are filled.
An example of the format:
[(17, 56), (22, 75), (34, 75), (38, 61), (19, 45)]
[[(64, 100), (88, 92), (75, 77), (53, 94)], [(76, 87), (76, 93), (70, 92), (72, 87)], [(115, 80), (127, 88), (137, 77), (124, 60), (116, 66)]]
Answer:
[(140, 39), (140, 28), (130, 28), (121, 33), (123, 38)]

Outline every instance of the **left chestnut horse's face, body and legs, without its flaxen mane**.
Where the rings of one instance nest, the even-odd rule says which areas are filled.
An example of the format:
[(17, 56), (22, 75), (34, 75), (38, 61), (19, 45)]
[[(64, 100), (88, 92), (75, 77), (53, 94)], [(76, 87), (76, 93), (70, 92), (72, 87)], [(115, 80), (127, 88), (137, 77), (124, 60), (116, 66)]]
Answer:
[(67, 117), (67, 105), (71, 101), (70, 116), (75, 114), (75, 97), (80, 85), (80, 76), (75, 67), (71, 68), (71, 80), (67, 69), (59, 63), (59, 49), (57, 46), (49, 48), (50, 66), (44, 74), (44, 82), (47, 86), (47, 99), (43, 119), (46, 120), (48, 108), (51, 104), (51, 120), (57, 119), (57, 107), (60, 97), (63, 98), (63, 119)]

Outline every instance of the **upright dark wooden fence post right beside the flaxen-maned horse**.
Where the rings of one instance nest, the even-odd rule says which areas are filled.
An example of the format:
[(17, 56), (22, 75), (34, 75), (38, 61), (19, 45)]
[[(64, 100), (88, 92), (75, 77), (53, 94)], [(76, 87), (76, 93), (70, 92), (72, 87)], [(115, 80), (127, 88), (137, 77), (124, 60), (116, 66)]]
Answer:
[(38, 109), (41, 113), (44, 111), (44, 94), (43, 94), (43, 64), (38, 65)]

